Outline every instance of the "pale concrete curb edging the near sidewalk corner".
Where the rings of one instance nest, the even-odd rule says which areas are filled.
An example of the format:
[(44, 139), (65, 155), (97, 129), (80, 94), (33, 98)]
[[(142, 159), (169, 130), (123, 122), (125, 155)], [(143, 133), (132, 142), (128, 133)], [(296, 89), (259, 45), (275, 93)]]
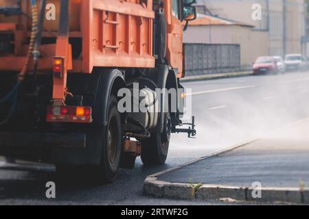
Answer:
[[(158, 177), (167, 172), (178, 170), (184, 166), (194, 164), (209, 157), (216, 157), (225, 153), (229, 153), (242, 146), (246, 146), (256, 140), (251, 140), (243, 144), (232, 146), (229, 149), (214, 153), (207, 157), (201, 157), (187, 164), (176, 166), (162, 172), (150, 175), (144, 181), (144, 194), (158, 198), (179, 198), (191, 199), (198, 201), (222, 201), (227, 198), (230, 201), (258, 201), (258, 202), (280, 202), (280, 203), (296, 203), (309, 205), (309, 188), (262, 188), (262, 198), (253, 198), (255, 194), (254, 188), (238, 187), (232, 185), (197, 185), (190, 183), (170, 183), (167, 181), (159, 181)], [(253, 193), (254, 192), (254, 193)]]

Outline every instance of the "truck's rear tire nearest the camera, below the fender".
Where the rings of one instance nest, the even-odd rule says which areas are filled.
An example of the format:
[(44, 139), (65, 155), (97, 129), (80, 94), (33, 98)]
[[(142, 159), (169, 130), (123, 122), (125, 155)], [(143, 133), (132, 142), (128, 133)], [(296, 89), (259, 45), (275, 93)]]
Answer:
[(122, 153), (122, 123), (115, 96), (111, 96), (108, 104), (108, 124), (91, 127), (88, 132), (87, 146), (100, 149), (97, 151), (101, 153), (100, 165), (56, 164), (57, 175), (60, 179), (77, 177), (88, 183), (113, 183), (117, 177)]

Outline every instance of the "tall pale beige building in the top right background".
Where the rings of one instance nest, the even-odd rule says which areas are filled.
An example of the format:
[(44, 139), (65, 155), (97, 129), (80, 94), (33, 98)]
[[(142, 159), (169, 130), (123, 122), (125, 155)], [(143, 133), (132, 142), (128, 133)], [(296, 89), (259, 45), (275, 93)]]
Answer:
[[(261, 6), (261, 19), (253, 19), (256, 4)], [(253, 25), (254, 31), (268, 33), (268, 54), (304, 53), (301, 38), (306, 34), (304, 0), (198, 0), (199, 12)]]

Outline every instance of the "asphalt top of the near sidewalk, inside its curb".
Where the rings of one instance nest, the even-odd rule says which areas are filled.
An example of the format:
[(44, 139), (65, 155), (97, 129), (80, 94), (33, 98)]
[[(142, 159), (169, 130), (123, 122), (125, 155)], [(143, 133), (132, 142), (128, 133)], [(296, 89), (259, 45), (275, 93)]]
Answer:
[(253, 187), (254, 182), (271, 188), (308, 186), (308, 129), (306, 120), (222, 155), (167, 172), (157, 180), (243, 188)]

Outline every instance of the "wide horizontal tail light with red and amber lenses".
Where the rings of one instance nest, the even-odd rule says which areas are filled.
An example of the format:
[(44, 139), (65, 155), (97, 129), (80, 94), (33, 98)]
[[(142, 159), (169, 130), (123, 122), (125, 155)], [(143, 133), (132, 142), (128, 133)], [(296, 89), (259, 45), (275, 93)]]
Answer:
[(55, 106), (47, 107), (49, 123), (91, 123), (91, 107)]

